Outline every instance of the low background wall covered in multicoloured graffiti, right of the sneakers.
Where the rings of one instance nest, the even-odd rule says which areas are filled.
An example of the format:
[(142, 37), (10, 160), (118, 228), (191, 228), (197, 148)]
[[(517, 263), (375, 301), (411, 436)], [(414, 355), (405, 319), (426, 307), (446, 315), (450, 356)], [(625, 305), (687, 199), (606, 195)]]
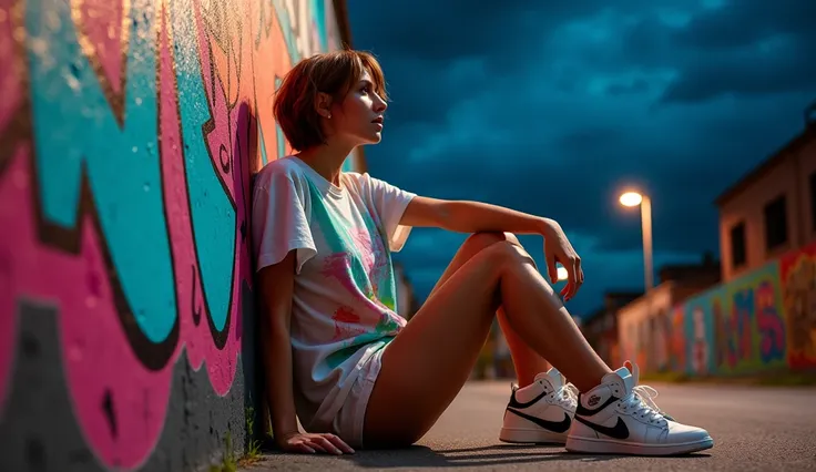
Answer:
[(656, 351), (650, 356), (657, 361), (643, 359), (644, 366), (690, 376), (805, 368), (807, 363), (799, 358), (792, 361), (788, 352), (790, 318), (785, 294), (781, 264), (771, 261), (676, 305), (671, 320), (666, 314), (654, 312), (645, 321), (629, 325), (624, 352), (640, 355), (644, 346), (654, 346)]

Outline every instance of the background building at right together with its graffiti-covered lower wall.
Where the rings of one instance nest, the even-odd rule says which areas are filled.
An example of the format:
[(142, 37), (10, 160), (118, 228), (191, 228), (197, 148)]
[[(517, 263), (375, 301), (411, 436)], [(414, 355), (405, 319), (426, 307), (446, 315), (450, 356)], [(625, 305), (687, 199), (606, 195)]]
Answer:
[(711, 257), (664, 269), (671, 283), (620, 310), (624, 356), (644, 372), (816, 371), (816, 102), (798, 135), (716, 204), (718, 277)]

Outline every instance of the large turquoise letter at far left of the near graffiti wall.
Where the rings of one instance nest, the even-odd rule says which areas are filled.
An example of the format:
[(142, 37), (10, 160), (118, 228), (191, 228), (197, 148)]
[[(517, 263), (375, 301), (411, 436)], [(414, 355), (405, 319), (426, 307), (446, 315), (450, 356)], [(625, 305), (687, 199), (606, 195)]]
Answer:
[[(122, 327), (143, 363), (160, 369), (175, 348), (178, 318), (167, 316), (176, 294), (159, 156), (156, 14), (150, 2), (133, 7), (139, 13), (124, 60), (132, 79), (124, 80), (122, 99), (114, 99), (118, 109), (86, 65), (69, 4), (29, 2), (34, 165), (43, 242), (76, 252), (79, 217), (95, 213), (118, 267)], [(47, 27), (47, 11), (57, 16), (57, 28)]]

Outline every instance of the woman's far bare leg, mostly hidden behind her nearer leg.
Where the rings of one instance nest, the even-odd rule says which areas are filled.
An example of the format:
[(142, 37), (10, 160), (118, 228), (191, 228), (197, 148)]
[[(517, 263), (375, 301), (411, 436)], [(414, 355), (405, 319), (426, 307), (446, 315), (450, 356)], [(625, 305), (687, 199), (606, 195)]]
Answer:
[[(488, 246), (496, 244), (501, 240), (507, 240), (521, 247), (521, 243), (512, 233), (477, 233), (470, 235), (465, 243), (459, 247), (459, 250), (453, 256), (453, 259), (445, 269), (442, 276), (439, 277), (437, 285), (428, 295), (428, 298), (432, 297), (439, 288), (445, 285), (446, 281), (457, 271), (461, 266), (465, 265), (471, 257), (476, 256), (480, 250)], [(508, 348), (510, 349), (510, 356), (513, 360), (513, 368), (516, 369), (516, 378), (519, 382), (519, 387), (527, 387), (533, 382), (536, 376), (540, 372), (545, 372), (550, 369), (550, 363), (536, 352), (532, 348), (527, 346), (523, 339), (513, 330), (507, 320), (504, 309), (499, 307), (496, 312), (499, 319), (499, 327), (501, 332), (504, 335)]]

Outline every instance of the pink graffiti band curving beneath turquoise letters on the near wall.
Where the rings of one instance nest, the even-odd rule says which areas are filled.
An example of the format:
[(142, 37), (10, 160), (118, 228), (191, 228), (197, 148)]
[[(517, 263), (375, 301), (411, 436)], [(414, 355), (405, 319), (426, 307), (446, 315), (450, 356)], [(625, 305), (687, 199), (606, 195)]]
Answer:
[[(233, 304), (228, 338), (218, 350), (206, 321), (193, 322), (193, 307), (206, 306), (202, 297), (201, 277), (195, 259), (195, 243), (187, 206), (184, 176), (184, 155), (173, 58), (169, 42), (167, 14), (162, 14), (160, 34), (160, 130), (161, 156), (164, 176), (165, 213), (169, 219), (171, 250), (173, 254), (180, 342), (171, 361), (159, 371), (146, 370), (125, 338), (113, 301), (111, 274), (103, 263), (104, 242), (90, 215), (78, 223), (80, 227), (79, 254), (69, 254), (42, 246), (39, 240), (33, 201), (32, 155), (30, 145), (18, 147), (10, 157), (8, 168), (0, 177), (0, 227), (14, 228), (3, 232), (0, 254), (0, 392), (6, 384), (13, 351), (11, 337), (20, 298), (29, 298), (53, 305), (59, 312), (58, 328), (62, 345), (68, 390), (73, 399), (76, 421), (98, 459), (109, 468), (133, 469), (139, 466), (157, 442), (166, 415), (172, 384), (173, 366), (186, 348), (194, 369), (207, 365), (213, 389), (225, 394), (237, 371), (241, 348), (242, 280), (249, 283), (249, 255), (238, 238), (235, 248)], [(214, 156), (217, 158), (217, 154)], [(248, 157), (241, 155), (236, 163), (245, 166)], [(239, 172), (234, 185), (246, 186)], [(228, 185), (232, 186), (232, 185)], [(237, 205), (237, 222), (246, 218), (243, 195)], [(13, 274), (13, 277), (8, 277)], [(193, 293), (196, 298), (193, 300)], [(167, 314), (173, 316), (172, 311)]]

